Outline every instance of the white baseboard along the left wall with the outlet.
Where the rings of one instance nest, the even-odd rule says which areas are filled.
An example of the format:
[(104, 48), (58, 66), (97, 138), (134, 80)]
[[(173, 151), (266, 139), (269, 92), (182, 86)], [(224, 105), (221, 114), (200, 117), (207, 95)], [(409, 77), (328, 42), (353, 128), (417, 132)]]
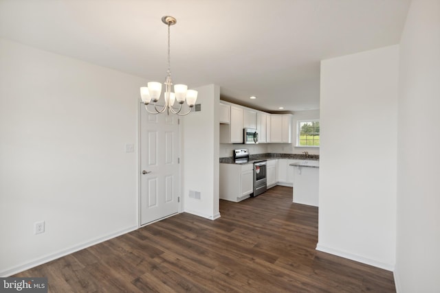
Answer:
[(115, 233), (110, 233), (108, 235), (98, 237), (96, 239), (92, 239), (89, 242), (85, 242), (83, 244), (72, 246), (71, 248), (67, 248), (65, 250), (61, 250), (56, 253), (51, 253), (50, 255), (45, 255), (44, 257), (39, 257), (37, 259), (33, 259), (32, 261), (28, 261), (28, 262), (23, 263), (19, 266), (9, 268), (8, 270), (3, 270), (3, 272), (0, 272), (0, 277), (9, 277), (9, 276), (12, 276), (13, 274), (18, 274), (19, 272), (23, 272), (23, 270), (29, 270), (30, 268), (40, 266), (41, 264), (47, 263), (49, 261), (53, 261), (54, 259), (59, 259), (60, 257), (65, 257), (66, 255), (69, 255), (71, 253), (76, 253), (76, 251), (78, 251), (78, 250), (82, 250), (84, 248), (94, 246), (95, 244), (107, 241), (109, 239), (118, 237), (120, 235), (129, 233), (131, 231), (135, 231), (137, 228), (138, 228), (137, 226), (131, 226), (130, 228), (126, 228), (126, 229), (123, 229), (123, 230), (115, 232)]

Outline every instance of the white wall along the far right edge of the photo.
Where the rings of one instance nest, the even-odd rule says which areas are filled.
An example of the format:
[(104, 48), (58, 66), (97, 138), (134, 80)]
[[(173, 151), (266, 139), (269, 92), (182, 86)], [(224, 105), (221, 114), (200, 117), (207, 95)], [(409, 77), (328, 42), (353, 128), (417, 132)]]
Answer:
[(412, 1), (400, 44), (398, 292), (440, 288), (440, 1)]

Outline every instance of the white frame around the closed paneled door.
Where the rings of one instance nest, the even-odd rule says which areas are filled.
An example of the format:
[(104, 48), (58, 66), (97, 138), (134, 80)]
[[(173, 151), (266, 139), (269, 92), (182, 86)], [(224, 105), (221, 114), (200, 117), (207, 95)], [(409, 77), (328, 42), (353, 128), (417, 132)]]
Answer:
[[(142, 226), (148, 226), (149, 224), (153, 224), (155, 222), (158, 222), (160, 220), (164, 220), (166, 218), (170, 218), (173, 215), (175, 215), (175, 213), (174, 213), (173, 215), (168, 215), (168, 216), (166, 216), (164, 218), (160, 218), (160, 219), (157, 219), (155, 221), (148, 222), (148, 223), (146, 223), (144, 225), (142, 225), (142, 223), (141, 223), (141, 202), (140, 202), (140, 200), (141, 200), (141, 178), (142, 178), (141, 172), (142, 172), (142, 165), (141, 165), (141, 159), (140, 159), (140, 154), (141, 154), (141, 145), (140, 145), (141, 139), (140, 139), (140, 137), (142, 135), (142, 125), (141, 125), (140, 115), (141, 115), (141, 111), (142, 110), (145, 111), (144, 103), (140, 99), (137, 99), (137, 228), (140, 228)], [(162, 113), (162, 114), (157, 114), (157, 115), (167, 115), (167, 114)], [(171, 114), (171, 115), (174, 115), (174, 114)], [(182, 140), (182, 137), (181, 137), (181, 124), (183, 123), (182, 120), (183, 119), (179, 118), (179, 127), (178, 127), (178, 129), (179, 129), (178, 130), (179, 131), (179, 141), (178, 141), (178, 143), (179, 143), (179, 154), (178, 154), (178, 156), (179, 156), (179, 180), (178, 180), (177, 185), (178, 185), (178, 192), (179, 192), (178, 196), (179, 196), (180, 200), (179, 200), (179, 211), (177, 213), (181, 213), (182, 212), (182, 209), (183, 209), (182, 207), (183, 207), (183, 202), (184, 202), (184, 197), (182, 196), (182, 180), (181, 180), (181, 169), (182, 169), (181, 168), (181, 165), (182, 165), (182, 159), (181, 159), (181, 140)]]

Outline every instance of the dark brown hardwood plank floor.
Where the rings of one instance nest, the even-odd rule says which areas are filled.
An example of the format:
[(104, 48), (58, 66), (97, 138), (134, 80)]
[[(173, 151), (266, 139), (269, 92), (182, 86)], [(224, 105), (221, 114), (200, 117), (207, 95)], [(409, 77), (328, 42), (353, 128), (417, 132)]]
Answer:
[(321, 253), (318, 208), (291, 187), (221, 200), (215, 221), (181, 213), (14, 277), (49, 292), (395, 292), (392, 272)]

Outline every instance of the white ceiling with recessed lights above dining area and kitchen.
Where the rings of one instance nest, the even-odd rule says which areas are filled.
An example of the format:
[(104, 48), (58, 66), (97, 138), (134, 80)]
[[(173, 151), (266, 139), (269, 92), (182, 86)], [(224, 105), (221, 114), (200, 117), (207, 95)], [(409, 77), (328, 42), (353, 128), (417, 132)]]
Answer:
[[(0, 37), (271, 113), (319, 108), (320, 60), (399, 43), (410, 0), (0, 0)], [(249, 99), (251, 95), (257, 99)]]

